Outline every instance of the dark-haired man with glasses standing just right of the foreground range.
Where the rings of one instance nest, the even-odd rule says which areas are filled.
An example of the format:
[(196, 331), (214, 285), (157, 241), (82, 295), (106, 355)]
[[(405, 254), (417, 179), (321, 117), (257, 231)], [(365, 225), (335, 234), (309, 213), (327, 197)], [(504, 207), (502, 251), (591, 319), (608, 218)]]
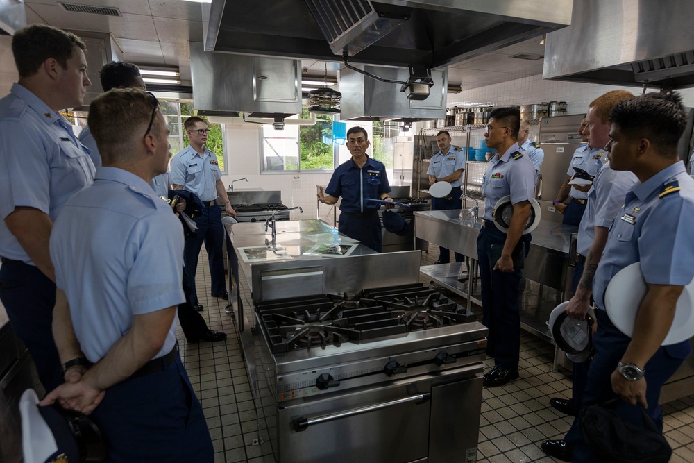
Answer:
[[(520, 111), (496, 108), (489, 117), (484, 140), (497, 154), (489, 161), (482, 179), (484, 226), (477, 237), (477, 257), (482, 280), (482, 323), (489, 328), (487, 352), (495, 361), (493, 369), (484, 375), (484, 385), (493, 387), (518, 378), (521, 270), (514, 267), (512, 255), (520, 253), (525, 257), (530, 251), (531, 237), (523, 235), (523, 229), (532, 207), (535, 168), (527, 156), (518, 151)], [(494, 225), (492, 214), (497, 201), (507, 195), (511, 196), (513, 215), (508, 233), (504, 233)], [(502, 246), (496, 262), (492, 258), (493, 245)]]

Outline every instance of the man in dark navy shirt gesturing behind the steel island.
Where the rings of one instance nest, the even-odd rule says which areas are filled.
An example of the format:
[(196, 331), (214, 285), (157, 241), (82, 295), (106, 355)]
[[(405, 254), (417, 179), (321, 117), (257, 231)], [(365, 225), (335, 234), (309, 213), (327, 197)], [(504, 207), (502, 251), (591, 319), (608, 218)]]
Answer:
[(380, 253), (380, 203), (364, 200), (392, 202), (393, 199), (389, 196), (391, 187), (386, 167), (382, 162), (366, 155), (366, 149), (370, 145), (369, 135), (364, 128), (353, 127), (347, 131), (347, 149), (352, 158), (335, 169), (325, 192), (322, 187), (319, 189), (318, 200), (323, 204), (335, 204), (341, 196), (337, 230)]

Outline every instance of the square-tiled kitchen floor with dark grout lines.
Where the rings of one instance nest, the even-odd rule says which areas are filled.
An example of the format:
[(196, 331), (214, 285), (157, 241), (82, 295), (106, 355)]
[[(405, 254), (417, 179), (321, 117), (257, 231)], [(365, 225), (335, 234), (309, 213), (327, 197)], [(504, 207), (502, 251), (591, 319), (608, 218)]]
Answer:
[[(434, 249), (434, 246), (432, 246)], [(207, 258), (198, 260), (198, 298), (212, 330), (228, 334), (223, 342), (187, 344), (178, 330), (181, 357), (201, 400), (214, 444), (215, 463), (272, 463), (266, 431), (259, 429), (237, 329), (224, 312), (225, 301), (210, 296)], [(422, 265), (436, 260), (437, 252), (422, 253)], [(452, 256), (451, 256), (452, 257)], [(422, 280), (423, 283), (429, 283)], [(481, 319), (481, 309), (473, 309)], [(552, 371), (554, 347), (523, 332), (521, 378), (504, 387), (484, 389), (477, 461), (554, 462), (543, 453), (545, 439), (561, 439), (573, 420), (550, 407), (552, 396), (569, 398), (570, 379)], [(489, 367), (493, 360), (488, 359)], [(673, 449), (673, 463), (694, 462), (694, 395), (663, 405), (665, 435)], [(253, 441), (261, 437), (263, 444)], [(265, 456), (263, 456), (265, 455)]]

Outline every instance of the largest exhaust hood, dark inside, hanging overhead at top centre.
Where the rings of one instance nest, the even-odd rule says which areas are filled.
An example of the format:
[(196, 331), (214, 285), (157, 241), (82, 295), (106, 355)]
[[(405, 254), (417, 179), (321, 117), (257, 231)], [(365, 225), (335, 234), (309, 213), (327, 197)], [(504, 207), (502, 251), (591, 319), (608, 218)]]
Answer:
[[(205, 8), (205, 50), (446, 67), (571, 22), (573, 0), (255, 0)], [(337, 58), (339, 60), (339, 58)]]

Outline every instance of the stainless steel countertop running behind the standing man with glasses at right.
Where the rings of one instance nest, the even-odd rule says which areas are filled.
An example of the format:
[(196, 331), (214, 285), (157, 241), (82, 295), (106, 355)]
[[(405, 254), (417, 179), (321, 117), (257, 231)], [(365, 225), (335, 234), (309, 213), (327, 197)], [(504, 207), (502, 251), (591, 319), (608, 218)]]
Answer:
[[(446, 224), (458, 224), (466, 228), (474, 228), (479, 231), (482, 228), (482, 219), (477, 222), (470, 220), (460, 219), (460, 210), (430, 210), (422, 212), (414, 212), (414, 216), (423, 216), (428, 219), (434, 219), (436, 221), (441, 221)], [(569, 244), (571, 241), (571, 233), (577, 233), (578, 227), (557, 224), (556, 222), (548, 220), (540, 220), (540, 224), (531, 233), (532, 242), (530, 243), (530, 248), (533, 246), (555, 251), (556, 253), (561, 253), (568, 255)]]

